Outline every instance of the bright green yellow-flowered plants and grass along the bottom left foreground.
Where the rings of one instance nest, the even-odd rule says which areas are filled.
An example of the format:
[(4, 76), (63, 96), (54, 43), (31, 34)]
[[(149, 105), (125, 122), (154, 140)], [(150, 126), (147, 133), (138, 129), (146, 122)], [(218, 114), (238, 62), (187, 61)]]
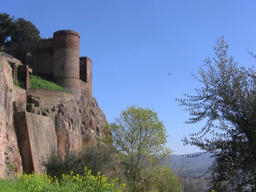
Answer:
[[(111, 179), (97, 173), (97, 176), (91, 175), (91, 171), (84, 168), (82, 175), (62, 174), (58, 180), (46, 174), (23, 174), (16, 175), (15, 180), (0, 180), (1, 190), (5, 191), (119, 191), (115, 189), (117, 178)], [(9, 186), (7, 186), (7, 184)]]

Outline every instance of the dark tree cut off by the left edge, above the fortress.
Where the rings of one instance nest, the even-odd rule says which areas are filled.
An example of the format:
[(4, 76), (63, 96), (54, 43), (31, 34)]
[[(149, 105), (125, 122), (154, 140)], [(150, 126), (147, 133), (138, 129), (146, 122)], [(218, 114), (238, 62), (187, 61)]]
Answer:
[(0, 13), (0, 48), (8, 43), (8, 38), (14, 30), (13, 16), (7, 13)]

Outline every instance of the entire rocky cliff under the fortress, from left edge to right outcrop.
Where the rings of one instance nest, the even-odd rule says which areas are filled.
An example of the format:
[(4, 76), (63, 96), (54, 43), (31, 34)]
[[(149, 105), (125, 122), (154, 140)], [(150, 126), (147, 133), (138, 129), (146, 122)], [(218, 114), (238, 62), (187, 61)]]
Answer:
[(13, 177), (15, 172), (22, 172), (22, 162), (26, 158), (20, 156), (19, 149), (22, 149), (18, 145), (14, 112), (27, 111), (50, 117), (55, 126), (57, 148), (63, 154), (89, 142), (100, 143), (98, 138), (110, 134), (103, 131), (107, 121), (95, 100), (90, 101), (83, 96), (79, 101), (62, 99), (46, 109), (40, 95), (26, 94), (26, 90), (13, 85), (12, 69), (1, 56), (0, 90), (0, 177)]

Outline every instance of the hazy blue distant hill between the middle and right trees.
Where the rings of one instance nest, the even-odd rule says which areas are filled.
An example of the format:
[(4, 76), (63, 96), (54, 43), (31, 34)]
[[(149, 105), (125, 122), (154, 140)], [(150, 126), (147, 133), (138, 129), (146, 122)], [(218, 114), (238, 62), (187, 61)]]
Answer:
[[(187, 177), (195, 177), (200, 174), (203, 174), (207, 171), (208, 167), (212, 164), (213, 159), (210, 158), (210, 153), (202, 153), (202, 155), (198, 157), (192, 158), (192, 156), (199, 154), (198, 153), (189, 153), (184, 155), (172, 155), (172, 159), (169, 161), (170, 166), (172, 170), (176, 173), (178, 170), (178, 167), (181, 165), (181, 159), (184, 159), (185, 166), (185, 173), (187, 174)], [(187, 156), (191, 156), (188, 157)]]

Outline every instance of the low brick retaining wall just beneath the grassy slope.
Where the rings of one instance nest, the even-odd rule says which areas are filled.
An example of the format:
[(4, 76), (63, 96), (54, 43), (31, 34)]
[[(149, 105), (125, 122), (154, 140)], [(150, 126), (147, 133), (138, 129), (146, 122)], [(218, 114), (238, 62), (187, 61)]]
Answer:
[(72, 94), (59, 91), (28, 89), (28, 94), (39, 95), (44, 101), (44, 107), (48, 109), (51, 109), (54, 105), (59, 104), (60, 99), (66, 99), (67, 101), (74, 99)]

